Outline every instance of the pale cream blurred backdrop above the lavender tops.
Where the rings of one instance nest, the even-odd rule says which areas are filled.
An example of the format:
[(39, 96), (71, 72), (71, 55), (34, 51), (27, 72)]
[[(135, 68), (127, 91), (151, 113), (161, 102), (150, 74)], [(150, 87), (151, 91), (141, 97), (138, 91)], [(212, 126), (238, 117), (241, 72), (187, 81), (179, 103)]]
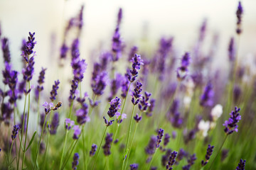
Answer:
[[(122, 40), (128, 46), (137, 45), (139, 50), (153, 55), (162, 36), (174, 36), (174, 47), (178, 54), (191, 50), (198, 39), (201, 24), (207, 19), (206, 49), (210, 47), (213, 35), (218, 35), (218, 57), (216, 64), (228, 62), (228, 43), (235, 36), (238, 6), (236, 0), (44, 0), (44, 1), (0, 1), (0, 22), (2, 36), (9, 38), (11, 62), (21, 70), (21, 40), (28, 32), (36, 32), (36, 74), (41, 67), (53, 71), (60, 56), (60, 45), (68, 20), (76, 16), (85, 5), (80, 53), (86, 60), (93, 50), (104, 46), (111, 50), (112, 34), (117, 22), (119, 8), (123, 8), (121, 23)], [(240, 59), (255, 55), (256, 51), (256, 1), (242, 1), (242, 36), (240, 38)], [(3, 66), (2, 57), (0, 59)], [(88, 61), (88, 60), (87, 60)], [(90, 68), (90, 63), (89, 63)], [(53, 79), (57, 79), (52, 75)]]

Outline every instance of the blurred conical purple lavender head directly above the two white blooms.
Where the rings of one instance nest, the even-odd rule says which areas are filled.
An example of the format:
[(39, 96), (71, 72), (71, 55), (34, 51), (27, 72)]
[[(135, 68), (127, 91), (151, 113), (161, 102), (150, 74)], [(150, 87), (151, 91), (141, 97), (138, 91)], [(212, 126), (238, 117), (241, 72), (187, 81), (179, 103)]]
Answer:
[(210, 82), (208, 82), (200, 98), (200, 105), (205, 107), (213, 106), (213, 96), (214, 96), (213, 85), (210, 84)]

